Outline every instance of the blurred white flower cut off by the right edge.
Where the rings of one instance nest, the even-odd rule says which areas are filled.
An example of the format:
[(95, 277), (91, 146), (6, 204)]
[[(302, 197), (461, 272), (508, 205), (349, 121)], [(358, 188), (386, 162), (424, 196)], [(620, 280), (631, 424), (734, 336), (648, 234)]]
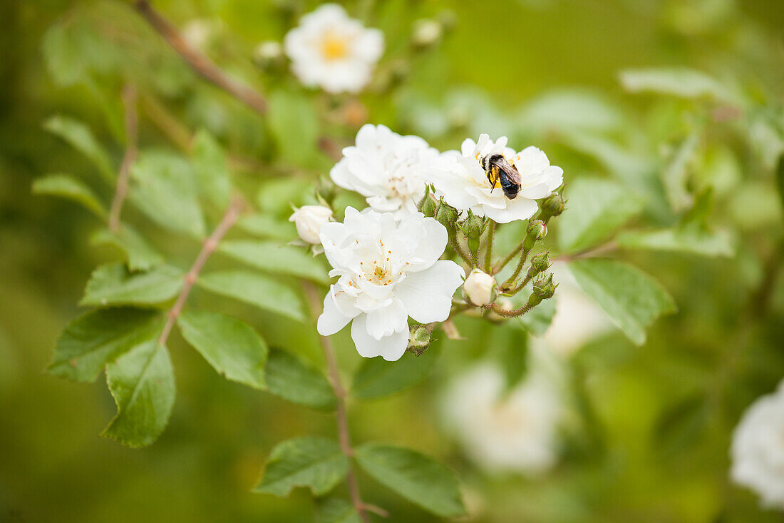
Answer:
[(731, 477), (764, 507), (784, 510), (784, 381), (746, 409), (731, 447)]

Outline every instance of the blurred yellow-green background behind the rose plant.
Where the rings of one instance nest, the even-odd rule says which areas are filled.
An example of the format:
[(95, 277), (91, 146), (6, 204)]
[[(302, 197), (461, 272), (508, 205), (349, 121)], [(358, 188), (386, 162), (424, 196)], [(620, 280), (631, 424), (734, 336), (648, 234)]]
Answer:
[[(315, 4), (160, 0), (154, 5), (180, 27), (196, 18), (221, 20), (211, 56), (270, 90), (292, 79), (254, 68), (252, 47), (280, 40), (295, 15)], [(481, 131), (509, 133), (526, 141), (521, 145), (530, 140), (545, 148), (551, 161), (564, 167), (567, 184), (584, 174), (637, 183), (636, 170), (646, 171), (645, 162), (658, 158), (682, 129), (684, 115), (701, 111), (697, 102), (624, 93), (618, 74), (626, 68), (683, 65), (710, 71), (742, 86), (775, 112), (779, 125), (784, 123), (778, 112), (784, 101), (784, 2), (779, 0), (359, 0), (346, 5), (382, 29), (392, 57), (387, 66), (407, 73), (393, 93), (361, 98), (369, 121), (419, 133), (439, 148), (457, 148), (462, 137), (475, 138)], [(444, 41), (436, 49), (409, 52), (413, 21), (444, 16), (445, 10), (454, 15), (455, 26)], [(82, 43), (95, 49), (95, 56), (75, 63), (83, 59), (98, 70), (104, 67), (97, 91), (64, 86), (47, 71), (44, 35), (63, 23), (78, 27)], [(274, 444), (301, 433), (332, 434), (332, 415), (227, 382), (174, 335), (170, 349), (178, 395), (172, 420), (155, 444), (132, 450), (97, 435), (115, 411), (100, 379), (85, 385), (42, 372), (58, 332), (78, 313), (89, 273), (113, 259), (106, 249), (89, 245), (97, 224), (84, 210), (31, 195), (32, 181), (42, 174), (95, 177), (81, 155), (43, 130), (45, 119), (66, 114), (85, 120), (119, 158), (122, 144), (106, 123), (96, 92), (118, 95), (118, 78), (127, 74), (118, 71), (127, 67), (136, 68), (140, 83), (158, 93), (189, 128), (206, 127), (230, 151), (270, 162), (274, 152), (263, 123), (199, 82), (121, 1), (0, 2), (0, 24), (0, 521), (310, 521), (313, 505), (301, 489), (278, 499), (252, 494), (250, 488)], [(104, 49), (101, 38), (114, 47)], [(121, 51), (128, 52), (127, 63)], [(615, 147), (606, 154), (586, 151), (589, 146), (564, 139), (524, 110), (545, 93), (575, 87), (596, 96), (602, 118), (609, 119), (598, 125), (601, 143)], [(577, 129), (583, 125), (578, 120)], [(567, 119), (563, 125), (571, 124)], [(348, 143), (356, 127), (332, 131)], [(173, 147), (148, 115), (142, 115), (140, 133), (143, 145)], [(580, 436), (561, 465), (534, 480), (485, 477), (440, 432), (437, 391), (454, 369), (492, 350), (481, 341), (492, 327), (474, 320), (459, 325), (468, 341), (445, 343), (432, 379), (390, 399), (352, 404), (354, 437), (408, 444), (446, 459), (465, 481), (466, 500), (476, 514), (472, 521), (781, 521), (780, 514), (758, 510), (750, 492), (732, 486), (727, 471), (731, 428), (742, 409), (784, 376), (784, 283), (775, 277), (782, 211), (771, 167), (742, 143), (742, 133), (717, 125), (708, 134), (699, 173), (713, 180), (717, 172), (729, 172), (731, 181), (716, 188), (713, 218), (735, 233), (737, 254), (630, 256), (670, 290), (679, 313), (655, 324), (646, 346), (610, 335), (572, 357), (590, 400), (591, 435)], [(714, 156), (721, 160), (710, 163)], [(289, 176), (272, 163), (274, 169), (245, 173), (249, 190), (261, 177)], [(328, 165), (319, 158), (305, 176), (325, 173)], [(281, 218), (289, 196), (283, 192), (280, 198)], [(652, 206), (648, 219), (666, 223), (671, 217)], [(198, 245), (177, 243), (172, 251), (186, 266)], [(194, 294), (191, 303), (198, 307), (209, 299)], [(270, 343), (321, 364), (314, 330), (245, 317)], [(343, 367), (356, 366), (348, 338), (338, 343)], [(390, 510), (393, 521), (432, 520), (367, 477), (360, 480), (364, 496)]]

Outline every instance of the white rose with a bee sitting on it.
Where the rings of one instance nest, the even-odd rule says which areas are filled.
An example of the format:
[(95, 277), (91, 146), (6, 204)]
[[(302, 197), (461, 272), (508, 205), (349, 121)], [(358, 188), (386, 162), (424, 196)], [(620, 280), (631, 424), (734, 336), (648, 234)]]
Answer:
[[(510, 165), (517, 168), (521, 189), (515, 199), (503, 194), (500, 186), (492, 188), (480, 164), (482, 157), (501, 154)], [(521, 152), (506, 147), (506, 137), (492, 141), (481, 134), (479, 141), (463, 141), (460, 151), (447, 151), (437, 162), (432, 177), (437, 196), (444, 196), (447, 203), (459, 210), (472, 210), (498, 223), (527, 220), (536, 210), (535, 200), (550, 196), (564, 181), (564, 170), (551, 166), (544, 152), (533, 146)]]

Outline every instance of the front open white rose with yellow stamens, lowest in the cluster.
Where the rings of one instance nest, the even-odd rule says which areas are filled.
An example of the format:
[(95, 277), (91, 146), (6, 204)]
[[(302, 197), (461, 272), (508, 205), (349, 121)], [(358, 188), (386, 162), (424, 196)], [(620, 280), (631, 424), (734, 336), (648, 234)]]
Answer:
[(447, 232), (433, 218), (417, 213), (397, 223), (390, 213), (347, 207), (343, 223), (324, 225), (320, 236), (329, 276), (340, 276), (324, 298), (320, 335), (353, 320), (357, 352), (392, 361), (408, 346), (408, 316), (423, 324), (448, 318), (465, 272), (438, 260)]

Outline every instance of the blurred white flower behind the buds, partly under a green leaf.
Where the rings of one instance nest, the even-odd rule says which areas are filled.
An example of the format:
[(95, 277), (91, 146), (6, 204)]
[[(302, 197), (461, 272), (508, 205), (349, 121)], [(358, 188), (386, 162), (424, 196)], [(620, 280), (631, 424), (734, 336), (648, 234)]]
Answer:
[(555, 353), (569, 356), (593, 338), (612, 331), (610, 316), (577, 285), (564, 262), (550, 267), (558, 282), (555, 315), (543, 335), (543, 342)]

